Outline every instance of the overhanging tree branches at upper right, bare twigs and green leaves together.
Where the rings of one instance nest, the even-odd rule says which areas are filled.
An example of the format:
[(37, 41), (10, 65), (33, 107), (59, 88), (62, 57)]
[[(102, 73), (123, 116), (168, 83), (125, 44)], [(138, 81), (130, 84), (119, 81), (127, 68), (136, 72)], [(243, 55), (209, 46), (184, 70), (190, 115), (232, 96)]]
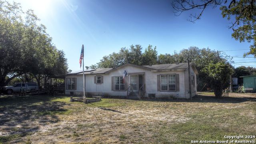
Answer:
[(199, 9), (199, 14), (190, 14), (190, 22), (200, 19), (207, 7), (220, 7), (222, 17), (232, 20), (230, 29), (233, 30), (232, 38), (240, 42), (252, 42), (250, 52), (256, 58), (256, 0), (231, 0), (227, 4), (227, 0), (174, 0), (172, 2), (174, 13), (180, 16), (182, 12)]

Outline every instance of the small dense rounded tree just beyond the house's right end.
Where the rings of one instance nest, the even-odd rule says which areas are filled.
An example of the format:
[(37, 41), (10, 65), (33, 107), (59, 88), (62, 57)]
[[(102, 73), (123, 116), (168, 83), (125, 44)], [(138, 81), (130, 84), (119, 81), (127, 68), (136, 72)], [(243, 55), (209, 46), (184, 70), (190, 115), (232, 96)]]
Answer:
[(233, 70), (228, 63), (219, 62), (217, 64), (209, 64), (201, 70), (203, 72), (204, 81), (211, 84), (216, 98), (221, 98), (222, 89), (228, 87), (228, 80)]

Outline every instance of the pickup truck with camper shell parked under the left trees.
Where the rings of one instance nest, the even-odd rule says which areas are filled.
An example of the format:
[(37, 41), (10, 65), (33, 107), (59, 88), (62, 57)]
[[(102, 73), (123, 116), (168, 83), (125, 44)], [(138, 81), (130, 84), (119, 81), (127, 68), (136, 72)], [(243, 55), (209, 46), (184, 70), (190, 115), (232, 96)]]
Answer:
[(20, 92), (20, 89), (24, 89), (25, 92), (31, 92), (38, 90), (38, 85), (35, 82), (14, 83), (12, 86), (2, 87), (2, 92), (5, 92), (6, 94), (12, 94), (12, 92)]

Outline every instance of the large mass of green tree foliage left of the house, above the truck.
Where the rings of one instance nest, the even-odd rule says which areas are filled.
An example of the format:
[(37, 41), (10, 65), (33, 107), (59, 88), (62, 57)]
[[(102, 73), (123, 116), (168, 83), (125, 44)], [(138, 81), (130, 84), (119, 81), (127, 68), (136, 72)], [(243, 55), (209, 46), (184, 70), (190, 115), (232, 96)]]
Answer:
[[(40, 84), (42, 78), (67, 72), (64, 52), (56, 49), (38, 22), (33, 10), (23, 12), (20, 4), (0, 0), (0, 86), (26, 73)], [(25, 81), (29, 79), (24, 75)]]

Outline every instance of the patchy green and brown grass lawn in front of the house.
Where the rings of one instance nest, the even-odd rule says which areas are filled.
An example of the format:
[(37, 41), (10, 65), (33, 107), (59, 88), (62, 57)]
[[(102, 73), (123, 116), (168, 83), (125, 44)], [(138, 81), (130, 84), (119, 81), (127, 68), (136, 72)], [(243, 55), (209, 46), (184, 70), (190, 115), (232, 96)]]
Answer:
[[(202, 100), (201, 100), (202, 99)], [(84, 104), (68, 96), (0, 95), (0, 143), (191, 143), (256, 135), (256, 94), (192, 100), (103, 98)]]

